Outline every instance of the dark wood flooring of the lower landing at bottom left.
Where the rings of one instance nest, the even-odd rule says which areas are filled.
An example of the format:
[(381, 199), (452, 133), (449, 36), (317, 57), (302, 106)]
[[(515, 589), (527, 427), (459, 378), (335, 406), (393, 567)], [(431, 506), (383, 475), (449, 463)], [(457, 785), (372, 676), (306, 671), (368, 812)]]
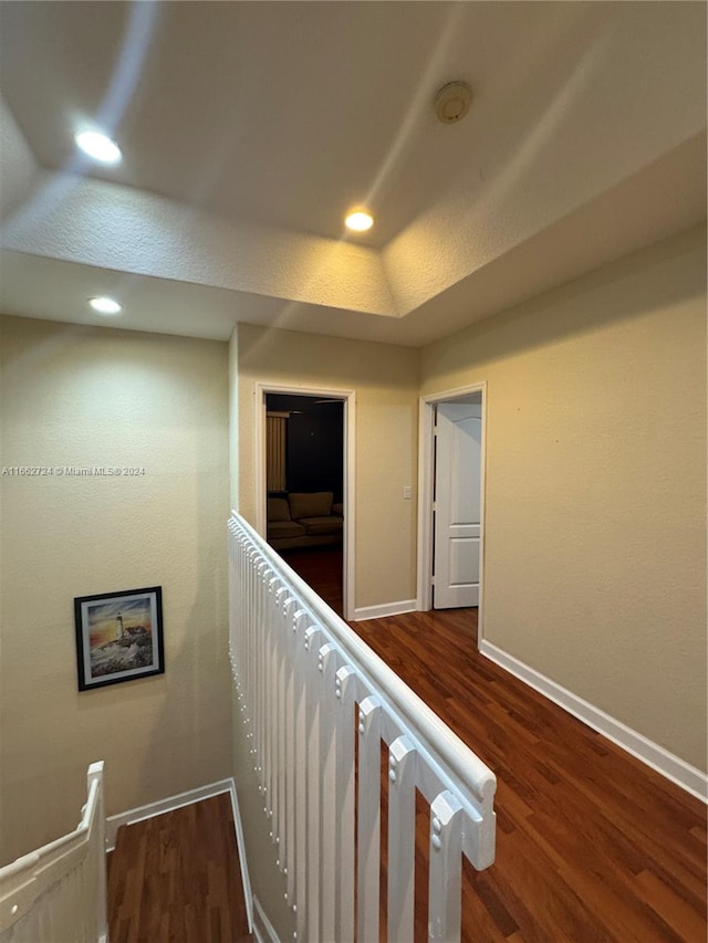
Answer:
[(111, 943), (252, 940), (227, 793), (118, 829), (108, 855)]

